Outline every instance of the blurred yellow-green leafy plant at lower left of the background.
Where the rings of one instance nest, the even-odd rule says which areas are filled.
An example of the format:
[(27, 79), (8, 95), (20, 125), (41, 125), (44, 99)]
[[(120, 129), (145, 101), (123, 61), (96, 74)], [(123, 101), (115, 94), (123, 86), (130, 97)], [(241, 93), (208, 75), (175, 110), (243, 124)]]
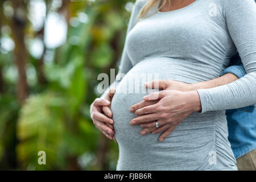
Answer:
[(20, 143), (17, 147), (18, 159), (23, 166), (30, 169), (40, 169), (38, 165), (38, 152), (45, 151), (47, 165), (50, 168), (57, 164), (57, 153), (61, 144), (63, 125), (61, 118), (61, 106), (64, 104), (62, 97), (56, 97), (53, 93), (42, 93), (31, 96), (23, 106), (18, 122), (18, 138)]

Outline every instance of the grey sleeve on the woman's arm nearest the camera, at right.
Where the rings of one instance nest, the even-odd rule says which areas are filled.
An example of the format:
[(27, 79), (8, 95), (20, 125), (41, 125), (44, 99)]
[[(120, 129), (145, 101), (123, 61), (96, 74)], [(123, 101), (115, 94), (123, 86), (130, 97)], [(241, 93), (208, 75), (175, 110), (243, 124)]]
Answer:
[(241, 57), (246, 75), (212, 89), (197, 90), (202, 113), (237, 109), (256, 103), (256, 5), (254, 0), (222, 1), (229, 34)]

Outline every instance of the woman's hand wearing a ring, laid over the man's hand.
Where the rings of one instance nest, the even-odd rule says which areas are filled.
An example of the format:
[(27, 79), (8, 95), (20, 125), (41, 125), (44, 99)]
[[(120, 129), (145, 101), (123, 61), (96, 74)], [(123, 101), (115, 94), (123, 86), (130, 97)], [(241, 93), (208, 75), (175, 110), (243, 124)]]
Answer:
[[(154, 88), (154, 85), (152, 85), (152, 88)], [(151, 93), (143, 99), (144, 101), (140, 104), (144, 103), (147, 106), (137, 110), (137, 104), (130, 108), (131, 111), (135, 111), (135, 114), (140, 115), (132, 119), (130, 124), (133, 126), (140, 124), (141, 127), (145, 128), (141, 131), (141, 134), (147, 134), (154, 131), (152, 129), (155, 128), (155, 121), (158, 121), (161, 126), (158, 129), (155, 128), (154, 133), (166, 131), (160, 136), (160, 141), (166, 138), (190, 114), (201, 110), (200, 97), (197, 91), (163, 90)], [(147, 103), (154, 101), (155, 104), (148, 105)]]

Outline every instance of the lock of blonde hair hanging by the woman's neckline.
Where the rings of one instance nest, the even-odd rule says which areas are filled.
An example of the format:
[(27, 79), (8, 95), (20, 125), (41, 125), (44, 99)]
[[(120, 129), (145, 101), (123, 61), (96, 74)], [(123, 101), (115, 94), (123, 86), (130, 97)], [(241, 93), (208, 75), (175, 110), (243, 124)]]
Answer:
[[(151, 16), (151, 15), (148, 15), (148, 16), (145, 16), (147, 14), (147, 12), (154, 6), (157, 5), (157, 3), (161, 1), (161, 0), (148, 0), (147, 3), (142, 7), (141, 11), (139, 12), (139, 15), (138, 15), (138, 18), (137, 18), (137, 22), (139, 21), (139, 19), (141, 18), (146, 18), (148, 16)], [(162, 0), (162, 4), (160, 7), (158, 7), (158, 10), (156, 10), (153, 14), (155, 14), (157, 11), (159, 11), (160, 9), (162, 9), (162, 7), (164, 5), (166, 5), (166, 3), (169, 3), (169, 6), (171, 6), (171, 0)]]

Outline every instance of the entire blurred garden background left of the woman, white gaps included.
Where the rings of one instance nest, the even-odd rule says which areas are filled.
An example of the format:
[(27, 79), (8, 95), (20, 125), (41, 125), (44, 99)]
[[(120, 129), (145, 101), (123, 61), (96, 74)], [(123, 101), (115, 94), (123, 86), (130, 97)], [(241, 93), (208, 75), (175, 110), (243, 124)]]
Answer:
[(0, 0), (0, 169), (115, 169), (118, 146), (89, 107), (98, 74), (121, 57), (134, 2)]

